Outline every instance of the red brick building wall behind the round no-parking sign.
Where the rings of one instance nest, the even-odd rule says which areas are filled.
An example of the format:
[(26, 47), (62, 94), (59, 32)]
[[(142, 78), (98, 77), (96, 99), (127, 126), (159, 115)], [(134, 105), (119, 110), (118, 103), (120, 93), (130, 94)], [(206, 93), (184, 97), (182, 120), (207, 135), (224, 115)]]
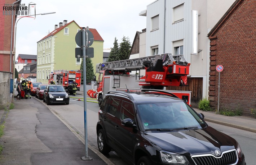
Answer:
[(220, 109), (256, 109), (256, 1), (242, 0), (217, 27), (210, 42), (210, 105), (217, 109), (219, 72)]

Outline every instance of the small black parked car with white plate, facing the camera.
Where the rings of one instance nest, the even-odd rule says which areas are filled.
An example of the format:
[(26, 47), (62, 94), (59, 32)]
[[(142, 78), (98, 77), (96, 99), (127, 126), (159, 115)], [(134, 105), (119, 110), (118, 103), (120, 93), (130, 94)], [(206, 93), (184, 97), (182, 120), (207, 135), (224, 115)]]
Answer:
[(69, 95), (62, 85), (47, 85), (43, 93), (43, 102), (69, 104)]

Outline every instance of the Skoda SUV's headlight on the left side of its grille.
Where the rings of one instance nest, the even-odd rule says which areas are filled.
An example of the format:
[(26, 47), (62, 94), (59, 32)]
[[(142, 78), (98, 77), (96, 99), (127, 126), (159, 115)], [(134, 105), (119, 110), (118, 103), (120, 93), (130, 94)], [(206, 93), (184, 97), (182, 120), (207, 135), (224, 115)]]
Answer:
[(176, 153), (172, 153), (169, 151), (160, 151), (161, 161), (164, 164), (172, 164), (172, 165), (188, 165), (189, 161), (186, 156), (178, 155)]

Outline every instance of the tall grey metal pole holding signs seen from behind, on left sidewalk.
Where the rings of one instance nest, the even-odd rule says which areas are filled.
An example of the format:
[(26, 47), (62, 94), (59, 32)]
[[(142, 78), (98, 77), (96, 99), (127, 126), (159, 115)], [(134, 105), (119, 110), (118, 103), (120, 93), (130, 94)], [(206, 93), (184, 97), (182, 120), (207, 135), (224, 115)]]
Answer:
[(83, 85), (84, 85), (84, 143), (85, 143), (85, 156), (82, 156), (82, 160), (92, 160), (92, 157), (88, 156), (88, 140), (87, 140), (87, 99), (86, 99), (86, 48), (88, 42), (88, 33), (85, 27), (82, 28), (82, 40), (83, 40)]

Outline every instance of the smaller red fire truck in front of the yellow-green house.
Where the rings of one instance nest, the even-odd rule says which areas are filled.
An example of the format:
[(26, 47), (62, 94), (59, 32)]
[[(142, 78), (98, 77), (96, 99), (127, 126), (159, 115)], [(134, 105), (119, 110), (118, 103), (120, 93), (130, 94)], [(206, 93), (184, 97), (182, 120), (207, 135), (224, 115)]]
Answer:
[(50, 81), (54, 81), (58, 85), (62, 85), (65, 90), (68, 90), (69, 93), (73, 94), (72, 83), (75, 80), (78, 83), (77, 90), (80, 91), (81, 87), (81, 71), (80, 70), (54, 70), (49, 75)]

